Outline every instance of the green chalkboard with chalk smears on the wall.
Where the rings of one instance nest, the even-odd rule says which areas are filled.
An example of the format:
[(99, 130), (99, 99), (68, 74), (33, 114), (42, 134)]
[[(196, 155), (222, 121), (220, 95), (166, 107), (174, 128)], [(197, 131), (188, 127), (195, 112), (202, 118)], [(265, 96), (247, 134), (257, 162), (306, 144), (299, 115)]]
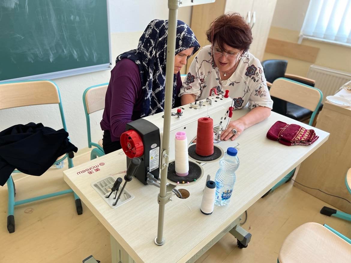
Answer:
[(0, 0), (0, 81), (108, 68), (108, 0)]

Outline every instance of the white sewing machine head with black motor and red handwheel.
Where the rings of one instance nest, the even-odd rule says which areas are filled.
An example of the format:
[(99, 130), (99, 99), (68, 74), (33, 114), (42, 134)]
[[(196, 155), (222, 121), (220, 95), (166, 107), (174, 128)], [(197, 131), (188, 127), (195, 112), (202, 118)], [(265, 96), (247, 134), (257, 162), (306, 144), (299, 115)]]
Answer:
[[(197, 136), (198, 119), (210, 117), (213, 119), (214, 142), (219, 142), (231, 116), (233, 99), (226, 93), (208, 97), (195, 103), (187, 104), (172, 110), (170, 125), (169, 160), (174, 160), (174, 138), (177, 132), (185, 131), (188, 143), (191, 144)], [(162, 150), (164, 112), (147, 116), (127, 124), (126, 132), (121, 136), (121, 145), (127, 155), (127, 166), (130, 158), (139, 157), (141, 165), (136, 173), (140, 182), (147, 184), (147, 173), (159, 178)], [(128, 158), (129, 157), (129, 158)]]

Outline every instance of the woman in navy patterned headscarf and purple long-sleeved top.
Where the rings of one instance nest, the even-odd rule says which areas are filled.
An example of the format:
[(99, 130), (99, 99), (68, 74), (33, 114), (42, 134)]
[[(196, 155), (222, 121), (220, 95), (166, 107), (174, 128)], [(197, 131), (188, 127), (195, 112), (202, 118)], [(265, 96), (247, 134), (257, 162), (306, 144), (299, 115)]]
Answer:
[[(139, 39), (138, 48), (120, 54), (111, 71), (100, 122), (105, 153), (121, 149), (126, 124), (164, 111), (167, 20), (152, 20)], [(200, 45), (183, 21), (177, 21), (172, 108), (180, 106), (181, 68)]]

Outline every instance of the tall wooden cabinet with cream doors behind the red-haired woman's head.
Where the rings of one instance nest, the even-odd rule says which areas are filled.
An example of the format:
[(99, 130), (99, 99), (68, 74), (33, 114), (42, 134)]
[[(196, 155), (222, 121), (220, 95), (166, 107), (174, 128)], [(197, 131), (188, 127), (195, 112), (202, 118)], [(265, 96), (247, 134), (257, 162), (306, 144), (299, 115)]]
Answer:
[[(191, 28), (201, 47), (210, 44), (206, 31), (211, 22), (222, 14), (239, 13), (252, 27), (253, 41), (250, 46), (252, 53), (259, 60), (263, 59), (266, 42), (271, 27), (277, 0), (216, 0), (212, 4), (193, 6)], [(195, 56), (187, 63), (187, 71)]]

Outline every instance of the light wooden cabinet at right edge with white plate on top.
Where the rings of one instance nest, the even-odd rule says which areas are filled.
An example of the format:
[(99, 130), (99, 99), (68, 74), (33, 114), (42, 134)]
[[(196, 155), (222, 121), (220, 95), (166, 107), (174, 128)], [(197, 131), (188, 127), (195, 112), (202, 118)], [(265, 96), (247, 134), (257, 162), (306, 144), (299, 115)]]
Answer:
[[(337, 94), (350, 92), (341, 90)], [(304, 160), (297, 173), (296, 182), (350, 200), (345, 176), (351, 167), (351, 107), (339, 107), (326, 101), (319, 113), (316, 128), (329, 132), (329, 139)], [(351, 213), (351, 205), (345, 200), (300, 184), (294, 183), (294, 186), (346, 213)]]

